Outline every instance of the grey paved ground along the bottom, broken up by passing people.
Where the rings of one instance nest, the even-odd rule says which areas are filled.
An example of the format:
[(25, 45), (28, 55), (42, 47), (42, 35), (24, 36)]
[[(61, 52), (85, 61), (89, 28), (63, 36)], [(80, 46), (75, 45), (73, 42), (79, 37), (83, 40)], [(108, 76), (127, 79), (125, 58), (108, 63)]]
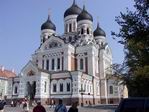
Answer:
[[(69, 109), (69, 107), (67, 107)], [(78, 107), (79, 112), (114, 112), (114, 109), (107, 108), (107, 107)], [(47, 112), (54, 112), (54, 108), (48, 108), (46, 107)], [(19, 107), (5, 107), (4, 112), (24, 112)], [(32, 112), (32, 109), (30, 109), (29, 112)]]

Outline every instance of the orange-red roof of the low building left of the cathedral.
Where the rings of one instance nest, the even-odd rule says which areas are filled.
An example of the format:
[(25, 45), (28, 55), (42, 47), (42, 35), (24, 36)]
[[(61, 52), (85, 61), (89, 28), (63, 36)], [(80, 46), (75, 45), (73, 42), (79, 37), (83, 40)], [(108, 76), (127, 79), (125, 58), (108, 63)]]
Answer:
[(0, 69), (0, 77), (4, 77), (4, 78), (16, 77), (16, 74), (9, 70)]

